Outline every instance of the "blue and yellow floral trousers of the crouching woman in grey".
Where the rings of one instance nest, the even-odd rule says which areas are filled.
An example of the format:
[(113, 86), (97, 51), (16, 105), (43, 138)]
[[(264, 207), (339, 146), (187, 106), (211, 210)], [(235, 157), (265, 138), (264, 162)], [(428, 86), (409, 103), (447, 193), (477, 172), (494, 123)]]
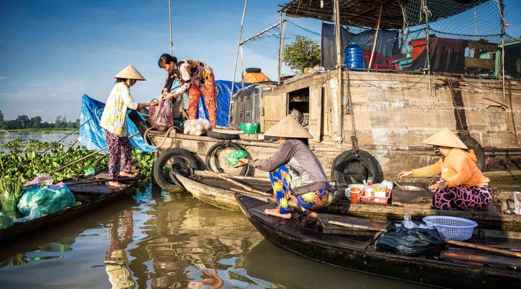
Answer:
[(291, 177), (289, 174), (289, 165), (287, 164), (283, 164), (269, 173), (269, 178), (271, 179), (271, 187), (273, 187), (274, 192), (273, 196), (280, 214), (291, 213), (288, 203), (290, 198), (299, 204), (304, 215), (322, 211), (333, 201), (333, 194), (326, 189), (297, 196), (292, 195), (290, 191)]

